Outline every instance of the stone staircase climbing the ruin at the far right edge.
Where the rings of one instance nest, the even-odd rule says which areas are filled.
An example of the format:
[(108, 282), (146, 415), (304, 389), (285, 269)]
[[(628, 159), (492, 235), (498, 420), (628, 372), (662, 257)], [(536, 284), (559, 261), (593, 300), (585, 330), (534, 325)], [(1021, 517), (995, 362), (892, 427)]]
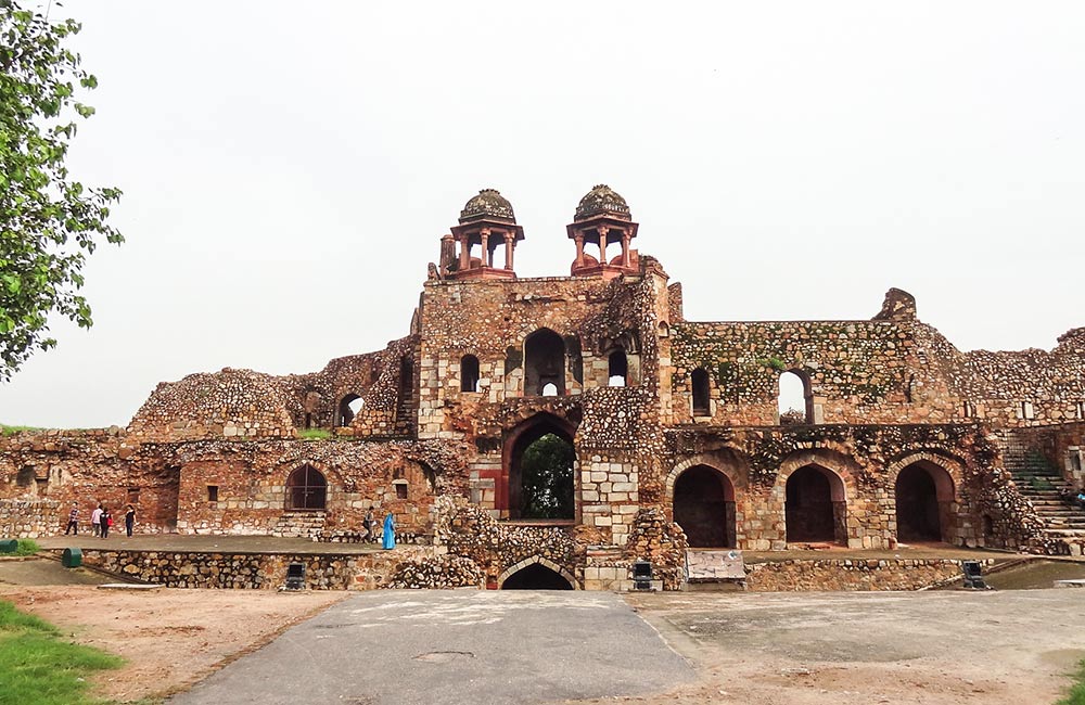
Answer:
[(1085, 510), (1062, 500), (1062, 474), (1042, 453), (1030, 449), (1013, 434), (1006, 434), (1003, 462), (1013, 477), (1018, 491), (1044, 520), (1048, 538), (1085, 538)]

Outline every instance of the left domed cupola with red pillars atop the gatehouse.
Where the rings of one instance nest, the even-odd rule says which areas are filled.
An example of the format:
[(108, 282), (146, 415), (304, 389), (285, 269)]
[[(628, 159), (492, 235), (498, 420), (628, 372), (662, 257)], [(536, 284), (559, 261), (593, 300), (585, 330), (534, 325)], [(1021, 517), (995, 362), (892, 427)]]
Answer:
[[(446, 235), (446, 239), (448, 236)], [(460, 225), (452, 228), (452, 244), (442, 248), (443, 274), (448, 279), (515, 279), (512, 255), (516, 242), (524, 239), (524, 229), (516, 225), (512, 204), (497, 189), (483, 189), (460, 210)], [(505, 267), (494, 266), (494, 251), (505, 244)], [(471, 248), (478, 245), (477, 256)]]

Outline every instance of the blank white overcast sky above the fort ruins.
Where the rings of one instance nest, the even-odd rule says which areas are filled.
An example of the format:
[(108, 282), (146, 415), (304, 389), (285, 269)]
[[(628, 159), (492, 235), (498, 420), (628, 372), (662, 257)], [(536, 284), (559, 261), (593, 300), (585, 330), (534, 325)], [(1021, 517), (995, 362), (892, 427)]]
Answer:
[(962, 349), (1085, 325), (1080, 2), (52, 14), (101, 82), (71, 166), (124, 189), (128, 242), (87, 268), (94, 328), (0, 386), (5, 423), (124, 425), (159, 381), (380, 349), (485, 187), (524, 277), (569, 273), (609, 183), (692, 320), (869, 318), (898, 286)]

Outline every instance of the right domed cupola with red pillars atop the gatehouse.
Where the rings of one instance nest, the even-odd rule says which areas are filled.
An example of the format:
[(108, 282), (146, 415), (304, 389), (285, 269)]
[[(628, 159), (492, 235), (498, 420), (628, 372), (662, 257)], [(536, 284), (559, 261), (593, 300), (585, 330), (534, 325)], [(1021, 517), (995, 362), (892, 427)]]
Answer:
[[(637, 251), (629, 248), (638, 227), (629, 215), (629, 204), (614, 189), (600, 183), (588, 191), (576, 206), (573, 222), (566, 226), (570, 239), (576, 242), (573, 275), (613, 279), (639, 271)], [(622, 254), (608, 261), (607, 245), (615, 243), (622, 244)], [(586, 244), (593, 245), (591, 249), (598, 249), (599, 256), (585, 252)]]

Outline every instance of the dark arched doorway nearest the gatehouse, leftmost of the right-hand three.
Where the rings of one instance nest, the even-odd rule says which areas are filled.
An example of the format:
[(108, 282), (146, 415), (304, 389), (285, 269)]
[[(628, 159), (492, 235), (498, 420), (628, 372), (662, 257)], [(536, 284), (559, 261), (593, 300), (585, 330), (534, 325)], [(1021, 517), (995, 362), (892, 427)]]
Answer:
[(735, 487), (709, 465), (693, 465), (675, 480), (675, 522), (690, 548), (735, 547)]

